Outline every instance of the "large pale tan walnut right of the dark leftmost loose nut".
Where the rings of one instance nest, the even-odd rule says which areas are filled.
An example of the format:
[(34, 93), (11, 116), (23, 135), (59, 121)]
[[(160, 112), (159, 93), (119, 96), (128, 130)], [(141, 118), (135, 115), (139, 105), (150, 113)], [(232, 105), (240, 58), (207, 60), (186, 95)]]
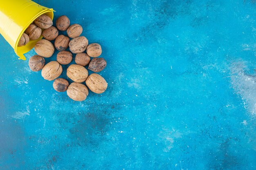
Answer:
[(62, 67), (57, 61), (47, 63), (42, 69), (42, 76), (45, 80), (52, 81), (62, 73)]

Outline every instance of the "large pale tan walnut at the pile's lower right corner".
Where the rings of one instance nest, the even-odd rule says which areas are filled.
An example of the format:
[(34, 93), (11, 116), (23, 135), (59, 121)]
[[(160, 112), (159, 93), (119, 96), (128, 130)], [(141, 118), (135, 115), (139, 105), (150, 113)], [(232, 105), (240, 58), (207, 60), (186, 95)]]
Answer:
[(94, 93), (101, 94), (108, 87), (106, 80), (99, 74), (92, 73), (85, 81), (87, 87)]

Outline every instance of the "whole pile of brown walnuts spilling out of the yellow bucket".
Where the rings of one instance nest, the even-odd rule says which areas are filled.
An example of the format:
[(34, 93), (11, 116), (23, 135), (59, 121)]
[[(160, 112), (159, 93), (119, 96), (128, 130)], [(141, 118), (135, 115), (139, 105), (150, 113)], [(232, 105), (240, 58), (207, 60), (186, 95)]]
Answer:
[[(88, 96), (87, 87), (97, 94), (105, 92), (108, 87), (105, 79), (96, 73), (88, 76), (88, 70), (84, 67), (89, 65), (88, 69), (93, 72), (100, 72), (106, 67), (105, 59), (95, 58), (101, 55), (101, 46), (96, 43), (88, 45), (88, 39), (80, 36), (83, 28), (79, 24), (70, 26), (70, 20), (65, 15), (57, 19), (57, 28), (52, 25), (50, 17), (41, 15), (27, 28), (22, 36), (23, 38), (20, 39), (22, 42), (19, 44), (25, 45), (29, 39), (38, 39), (41, 34), (45, 38), (36, 43), (35, 52), (38, 55), (34, 55), (29, 59), (29, 68), (34, 72), (42, 70), (41, 73), (45, 80), (55, 80), (53, 87), (57, 92), (67, 91), (67, 95), (76, 101), (86, 99)], [(44, 30), (42, 31), (41, 28)], [(58, 30), (67, 30), (68, 37), (58, 35)], [(70, 40), (70, 38), (72, 39)], [(23, 42), (23, 39), (25, 42)], [(54, 45), (51, 42), (52, 40), (55, 40)], [(62, 73), (61, 65), (69, 64), (72, 61), (72, 53), (66, 50), (68, 47), (72, 53), (76, 54), (76, 64), (72, 64), (67, 68), (67, 77), (74, 81), (71, 84), (64, 78), (58, 78)], [(44, 57), (52, 57), (55, 48), (60, 51), (57, 54), (57, 61), (50, 61), (45, 65)], [(85, 50), (86, 53), (84, 53)], [(90, 57), (93, 57), (93, 59), (91, 60)], [(82, 84), (83, 82), (87, 87)]]

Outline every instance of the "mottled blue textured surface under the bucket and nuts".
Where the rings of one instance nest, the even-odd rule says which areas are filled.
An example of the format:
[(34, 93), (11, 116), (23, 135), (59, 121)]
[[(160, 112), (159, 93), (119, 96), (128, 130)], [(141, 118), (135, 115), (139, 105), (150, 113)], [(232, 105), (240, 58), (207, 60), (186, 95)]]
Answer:
[(36, 2), (101, 44), (108, 89), (74, 102), (0, 36), (0, 169), (256, 169), (254, 0)]

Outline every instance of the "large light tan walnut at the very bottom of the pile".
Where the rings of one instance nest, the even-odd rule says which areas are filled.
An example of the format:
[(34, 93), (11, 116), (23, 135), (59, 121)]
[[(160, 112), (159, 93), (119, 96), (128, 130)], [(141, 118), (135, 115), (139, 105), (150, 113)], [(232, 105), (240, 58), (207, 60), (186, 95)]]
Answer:
[(83, 101), (88, 96), (87, 87), (81, 83), (73, 82), (67, 87), (67, 96), (75, 101)]

